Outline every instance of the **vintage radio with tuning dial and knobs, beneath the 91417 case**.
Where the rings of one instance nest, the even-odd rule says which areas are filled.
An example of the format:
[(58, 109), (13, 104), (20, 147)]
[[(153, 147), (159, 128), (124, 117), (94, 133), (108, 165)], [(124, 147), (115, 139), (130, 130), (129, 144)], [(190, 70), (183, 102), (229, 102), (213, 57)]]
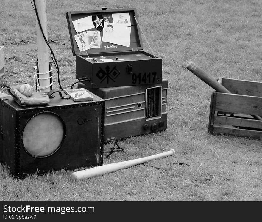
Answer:
[(161, 84), (89, 89), (105, 100), (105, 142), (166, 130), (167, 88), (163, 79)]

